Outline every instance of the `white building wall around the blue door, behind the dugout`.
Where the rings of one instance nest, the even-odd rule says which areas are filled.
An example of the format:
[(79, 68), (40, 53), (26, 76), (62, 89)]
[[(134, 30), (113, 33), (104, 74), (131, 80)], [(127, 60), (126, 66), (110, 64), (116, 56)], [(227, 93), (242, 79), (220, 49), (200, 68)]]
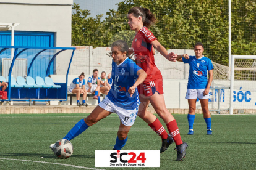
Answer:
[[(17, 31), (54, 32), (56, 47), (70, 47), (72, 4), (73, 0), (0, 0), (0, 22), (20, 23)], [(56, 57), (56, 73), (65, 74), (61, 66), (68, 61), (60, 55)]]

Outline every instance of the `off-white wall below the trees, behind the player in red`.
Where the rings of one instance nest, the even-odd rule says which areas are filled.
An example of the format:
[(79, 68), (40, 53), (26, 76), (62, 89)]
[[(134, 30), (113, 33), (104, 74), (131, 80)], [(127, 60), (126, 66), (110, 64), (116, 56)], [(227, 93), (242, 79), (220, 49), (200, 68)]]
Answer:
[[(111, 50), (111, 47), (96, 47), (92, 49), (89, 46), (74, 46), (77, 47), (70, 67), (70, 75), (80, 75), (85, 72), (86, 75), (92, 75), (94, 68), (110, 73), (112, 59), (106, 55)], [(91, 51), (91, 52), (90, 52)], [(175, 52), (177, 54), (187, 53), (194, 55), (194, 50), (184, 49), (169, 49), (168, 52)], [(163, 78), (166, 79), (184, 79), (189, 76), (189, 65), (184, 65), (183, 62), (169, 62), (159, 52), (155, 54), (156, 66), (160, 69)], [(185, 73), (184, 75), (184, 68)]]

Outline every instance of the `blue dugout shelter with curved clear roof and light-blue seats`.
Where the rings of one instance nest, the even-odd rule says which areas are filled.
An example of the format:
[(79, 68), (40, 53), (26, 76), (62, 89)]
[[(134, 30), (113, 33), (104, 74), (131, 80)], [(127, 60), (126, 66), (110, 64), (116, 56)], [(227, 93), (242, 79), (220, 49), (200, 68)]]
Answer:
[[(10, 55), (12, 49), (14, 49), (13, 57)], [(67, 78), (74, 51), (75, 48), (71, 47), (0, 46), (2, 59), (0, 81), (6, 79), (8, 82), (6, 89), (8, 99), (0, 100), (2, 102), (67, 100)], [(66, 71), (66, 83), (53, 83), (49, 77), (54, 72), (53, 64), (57, 57), (66, 61), (61, 64), (61, 70)], [(9, 71), (5, 71), (4, 74), (4, 70), (8, 68)]]

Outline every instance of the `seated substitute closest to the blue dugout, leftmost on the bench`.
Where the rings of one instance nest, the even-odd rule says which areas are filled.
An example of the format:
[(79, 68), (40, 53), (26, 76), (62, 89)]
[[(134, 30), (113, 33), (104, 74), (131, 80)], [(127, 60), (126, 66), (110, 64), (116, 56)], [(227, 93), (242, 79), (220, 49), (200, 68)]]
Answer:
[(73, 79), (69, 86), (69, 92), (77, 94), (77, 105), (80, 106), (81, 103), (79, 101), (80, 94), (83, 94), (83, 106), (88, 106), (85, 102), (87, 96), (87, 90), (85, 89), (85, 73), (81, 73), (78, 78)]

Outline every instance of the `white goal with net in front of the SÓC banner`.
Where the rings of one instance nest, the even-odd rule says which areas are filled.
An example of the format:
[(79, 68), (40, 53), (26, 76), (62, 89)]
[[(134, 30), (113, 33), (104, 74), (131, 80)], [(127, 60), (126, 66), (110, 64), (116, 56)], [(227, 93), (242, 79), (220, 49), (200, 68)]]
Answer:
[[(235, 61), (237, 59), (236, 65)], [(256, 55), (231, 55), (229, 114), (236, 108), (255, 110)], [(240, 65), (237, 65), (240, 63)], [(235, 67), (236, 66), (236, 67)], [(236, 83), (235, 83), (236, 81)], [(236, 104), (236, 105), (235, 105)]]

